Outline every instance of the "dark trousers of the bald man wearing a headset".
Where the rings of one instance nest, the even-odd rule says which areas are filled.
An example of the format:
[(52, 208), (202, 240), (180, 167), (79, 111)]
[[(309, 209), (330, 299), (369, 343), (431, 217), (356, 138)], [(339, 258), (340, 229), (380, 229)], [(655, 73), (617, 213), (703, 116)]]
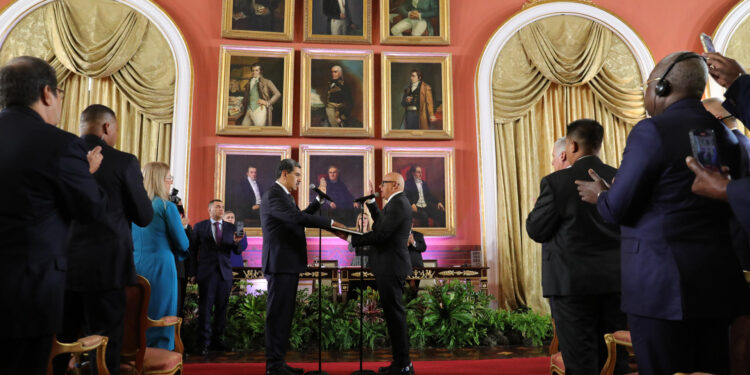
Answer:
[(729, 374), (727, 319), (664, 320), (628, 314), (628, 324), (641, 375)]

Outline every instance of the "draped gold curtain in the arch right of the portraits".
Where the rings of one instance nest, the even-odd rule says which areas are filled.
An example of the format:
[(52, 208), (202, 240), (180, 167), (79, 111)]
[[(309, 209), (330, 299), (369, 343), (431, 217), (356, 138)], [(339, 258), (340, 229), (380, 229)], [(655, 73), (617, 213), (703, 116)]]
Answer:
[(524, 223), (539, 181), (552, 172), (552, 145), (569, 122), (592, 118), (604, 126), (602, 160), (619, 165), (628, 132), (645, 116), (640, 84), (627, 46), (603, 25), (576, 16), (534, 22), (500, 52), (492, 82), (500, 307), (549, 311), (541, 246)]

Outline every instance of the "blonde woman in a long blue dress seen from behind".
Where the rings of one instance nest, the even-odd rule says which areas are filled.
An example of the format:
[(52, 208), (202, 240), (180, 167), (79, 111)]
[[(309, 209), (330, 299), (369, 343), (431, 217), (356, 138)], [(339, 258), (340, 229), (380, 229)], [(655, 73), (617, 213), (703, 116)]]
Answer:
[[(151, 319), (177, 315), (175, 258), (183, 260), (188, 255), (189, 242), (180, 213), (169, 201), (172, 180), (169, 166), (164, 163), (152, 162), (143, 167), (143, 183), (151, 198), (154, 219), (145, 228), (132, 226), (135, 270), (151, 283), (148, 303)], [(149, 328), (146, 345), (174, 350), (174, 327)]]

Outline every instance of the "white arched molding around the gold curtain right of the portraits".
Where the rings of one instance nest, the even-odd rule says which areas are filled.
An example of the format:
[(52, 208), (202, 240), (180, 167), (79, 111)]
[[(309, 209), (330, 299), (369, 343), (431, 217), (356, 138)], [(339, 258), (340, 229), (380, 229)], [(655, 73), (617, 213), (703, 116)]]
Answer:
[(489, 266), (491, 291), (498, 287), (499, 260), (497, 258), (497, 163), (495, 155), (495, 132), (492, 110), (492, 71), (500, 51), (518, 30), (543, 18), (572, 15), (599, 22), (611, 30), (628, 46), (641, 71), (643, 81), (654, 67), (651, 52), (643, 39), (620, 18), (590, 2), (581, 1), (536, 1), (508, 19), (492, 35), (480, 57), (476, 70), (477, 106), (477, 162), (480, 178), (480, 207), (482, 230), (482, 253), (484, 264)]

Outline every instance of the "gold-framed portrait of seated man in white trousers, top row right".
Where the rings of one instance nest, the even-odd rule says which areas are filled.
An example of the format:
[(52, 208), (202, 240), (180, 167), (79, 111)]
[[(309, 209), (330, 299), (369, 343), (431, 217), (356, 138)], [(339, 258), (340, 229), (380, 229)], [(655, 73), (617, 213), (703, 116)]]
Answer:
[[(419, 0), (417, 9), (413, 9), (411, 2), (412, 0), (381, 0), (380, 43), (450, 44), (450, 0)], [(416, 18), (411, 19), (410, 10), (416, 11)], [(438, 12), (437, 15), (434, 15), (435, 11)], [(422, 35), (404, 35), (413, 31), (422, 31)]]

